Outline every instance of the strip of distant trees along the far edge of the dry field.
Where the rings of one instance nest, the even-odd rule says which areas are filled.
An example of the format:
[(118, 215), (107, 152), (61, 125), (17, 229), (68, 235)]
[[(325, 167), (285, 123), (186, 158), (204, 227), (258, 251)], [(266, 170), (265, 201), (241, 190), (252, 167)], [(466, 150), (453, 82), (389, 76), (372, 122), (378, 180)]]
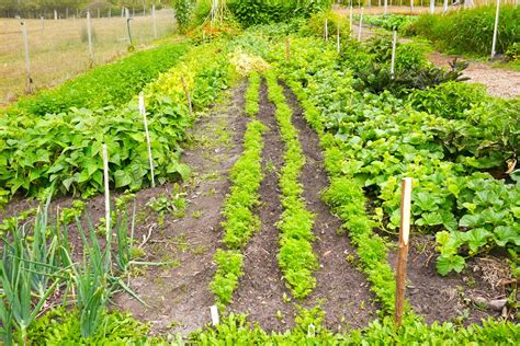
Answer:
[[(152, 4), (160, 9), (170, 0), (0, 0), (0, 16), (14, 18), (54, 18), (54, 11), (58, 18), (64, 19), (72, 15), (83, 15), (88, 10), (93, 15), (106, 16), (121, 15), (122, 8), (142, 13), (143, 9), (149, 11)], [(161, 3), (162, 2), (162, 3)], [(131, 12), (132, 13), (132, 12)]]

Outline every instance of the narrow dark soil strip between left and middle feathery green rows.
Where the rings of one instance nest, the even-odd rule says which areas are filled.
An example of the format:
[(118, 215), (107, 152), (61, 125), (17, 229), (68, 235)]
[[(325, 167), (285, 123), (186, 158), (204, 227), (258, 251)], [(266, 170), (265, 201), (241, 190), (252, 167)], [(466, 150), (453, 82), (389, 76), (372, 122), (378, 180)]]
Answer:
[(294, 307), (283, 300), (291, 297), (278, 265), (279, 230), (283, 208), (280, 201), (278, 172), (283, 165), (285, 146), (274, 118), (275, 107), (268, 100), (265, 83), (260, 86), (260, 108), (258, 119), (268, 128), (263, 136), (262, 169), (260, 184), (261, 229), (252, 237), (245, 251), (244, 276), (230, 311), (246, 312), (249, 321), (259, 323), (267, 331), (283, 332), (294, 326)]

